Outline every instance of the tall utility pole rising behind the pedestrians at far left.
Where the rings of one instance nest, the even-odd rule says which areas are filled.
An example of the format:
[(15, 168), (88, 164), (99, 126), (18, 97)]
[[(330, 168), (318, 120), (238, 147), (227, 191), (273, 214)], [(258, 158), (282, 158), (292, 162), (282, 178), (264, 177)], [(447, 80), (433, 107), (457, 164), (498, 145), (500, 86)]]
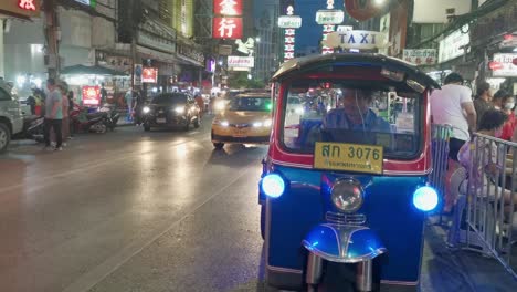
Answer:
[(60, 25), (56, 0), (44, 0), (43, 8), (45, 12), (44, 31), (46, 40), (45, 64), (49, 77), (56, 79), (60, 73)]

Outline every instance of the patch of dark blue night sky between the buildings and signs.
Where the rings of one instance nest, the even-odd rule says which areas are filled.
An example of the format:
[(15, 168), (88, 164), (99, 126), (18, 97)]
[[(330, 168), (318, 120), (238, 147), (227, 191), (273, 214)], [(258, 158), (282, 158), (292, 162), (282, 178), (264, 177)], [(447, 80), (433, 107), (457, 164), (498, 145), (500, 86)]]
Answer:
[[(335, 0), (335, 9), (344, 9), (344, 0)], [(323, 27), (316, 23), (316, 11), (327, 8), (327, 0), (295, 0), (295, 14), (300, 15), (302, 28), (296, 31), (296, 51), (318, 46)]]

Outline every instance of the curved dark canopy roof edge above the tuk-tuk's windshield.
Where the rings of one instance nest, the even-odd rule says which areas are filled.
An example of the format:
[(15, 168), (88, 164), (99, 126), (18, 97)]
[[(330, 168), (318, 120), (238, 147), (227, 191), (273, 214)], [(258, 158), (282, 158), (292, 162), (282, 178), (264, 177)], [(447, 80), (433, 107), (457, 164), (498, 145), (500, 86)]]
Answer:
[(440, 88), (433, 79), (420, 71), (416, 66), (400, 59), (383, 54), (367, 53), (334, 53), (318, 54), (296, 58), (285, 62), (273, 75), (273, 81), (282, 81), (312, 70), (337, 64), (340, 66), (379, 66), (405, 74), (405, 79), (411, 79), (425, 87)]

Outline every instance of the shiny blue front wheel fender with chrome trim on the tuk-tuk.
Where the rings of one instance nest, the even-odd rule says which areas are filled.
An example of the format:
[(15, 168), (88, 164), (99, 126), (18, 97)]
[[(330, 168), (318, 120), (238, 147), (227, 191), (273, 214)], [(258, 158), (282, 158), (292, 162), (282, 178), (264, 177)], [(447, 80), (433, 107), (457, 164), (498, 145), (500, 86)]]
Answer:
[(369, 261), (387, 251), (376, 232), (361, 226), (319, 225), (303, 244), (324, 260), (341, 263)]

